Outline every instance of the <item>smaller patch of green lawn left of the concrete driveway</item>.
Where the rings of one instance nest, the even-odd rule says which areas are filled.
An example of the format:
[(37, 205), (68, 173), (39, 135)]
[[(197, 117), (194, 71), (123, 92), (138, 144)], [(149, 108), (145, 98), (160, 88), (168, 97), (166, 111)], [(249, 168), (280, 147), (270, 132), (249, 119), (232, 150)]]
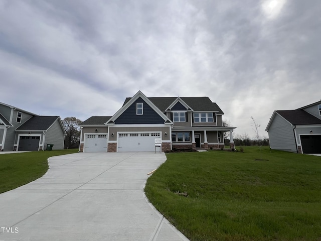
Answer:
[(48, 170), (48, 158), (78, 152), (78, 149), (24, 152), (0, 155), (0, 193), (15, 189), (42, 177)]

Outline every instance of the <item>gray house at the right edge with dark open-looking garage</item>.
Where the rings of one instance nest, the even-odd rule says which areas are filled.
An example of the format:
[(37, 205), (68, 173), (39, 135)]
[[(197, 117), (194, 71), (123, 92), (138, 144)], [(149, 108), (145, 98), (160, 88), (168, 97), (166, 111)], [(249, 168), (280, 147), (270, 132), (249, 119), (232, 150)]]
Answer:
[(321, 101), (294, 110), (275, 110), (265, 131), (271, 149), (321, 153)]

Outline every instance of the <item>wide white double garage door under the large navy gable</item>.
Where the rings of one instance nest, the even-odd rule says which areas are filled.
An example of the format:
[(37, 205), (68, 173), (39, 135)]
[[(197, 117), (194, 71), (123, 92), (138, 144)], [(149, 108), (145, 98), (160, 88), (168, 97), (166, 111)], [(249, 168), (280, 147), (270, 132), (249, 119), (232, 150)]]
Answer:
[(153, 152), (161, 133), (118, 133), (118, 152)]

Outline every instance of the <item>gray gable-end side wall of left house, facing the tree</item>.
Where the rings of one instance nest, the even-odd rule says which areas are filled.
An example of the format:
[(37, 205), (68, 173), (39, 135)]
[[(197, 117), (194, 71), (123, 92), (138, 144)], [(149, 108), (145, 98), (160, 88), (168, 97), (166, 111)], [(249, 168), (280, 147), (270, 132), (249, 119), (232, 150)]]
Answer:
[(47, 149), (47, 144), (54, 144), (53, 150), (64, 149), (65, 135), (59, 121), (57, 120), (46, 133), (44, 150)]

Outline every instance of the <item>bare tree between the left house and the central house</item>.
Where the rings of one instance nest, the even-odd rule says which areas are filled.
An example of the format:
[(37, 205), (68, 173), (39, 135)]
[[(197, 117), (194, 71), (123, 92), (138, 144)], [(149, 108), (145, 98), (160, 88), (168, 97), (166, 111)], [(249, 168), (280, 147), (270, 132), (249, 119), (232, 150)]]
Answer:
[(82, 123), (82, 121), (76, 117), (66, 117), (63, 119), (62, 123), (64, 124), (67, 133), (65, 138), (65, 147), (76, 148), (77, 143), (80, 140), (79, 124)]

